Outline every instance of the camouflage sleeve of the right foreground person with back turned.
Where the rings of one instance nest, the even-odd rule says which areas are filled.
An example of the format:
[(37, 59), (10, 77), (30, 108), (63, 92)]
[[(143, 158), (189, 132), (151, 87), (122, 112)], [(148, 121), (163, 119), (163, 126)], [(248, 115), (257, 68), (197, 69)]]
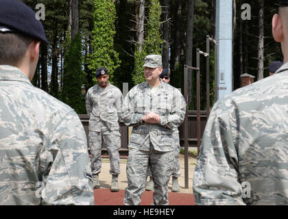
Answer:
[(224, 102), (217, 102), (211, 111), (194, 170), (196, 205), (244, 205), (232, 137), (232, 130), (237, 129), (231, 123), (237, 118), (235, 112), (231, 113)]

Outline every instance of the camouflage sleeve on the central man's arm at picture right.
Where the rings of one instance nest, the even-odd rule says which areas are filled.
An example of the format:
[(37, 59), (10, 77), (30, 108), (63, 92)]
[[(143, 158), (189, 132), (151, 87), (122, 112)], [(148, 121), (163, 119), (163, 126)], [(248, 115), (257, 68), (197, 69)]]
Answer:
[(160, 116), (160, 125), (169, 129), (180, 126), (186, 115), (186, 102), (183, 95), (175, 89), (173, 92), (172, 113), (167, 116)]

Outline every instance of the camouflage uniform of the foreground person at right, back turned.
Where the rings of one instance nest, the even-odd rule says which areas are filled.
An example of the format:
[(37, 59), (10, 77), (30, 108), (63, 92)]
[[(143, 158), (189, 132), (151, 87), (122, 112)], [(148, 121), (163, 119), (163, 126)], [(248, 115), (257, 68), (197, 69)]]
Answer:
[(287, 103), (288, 63), (215, 104), (193, 178), (196, 204), (288, 204)]

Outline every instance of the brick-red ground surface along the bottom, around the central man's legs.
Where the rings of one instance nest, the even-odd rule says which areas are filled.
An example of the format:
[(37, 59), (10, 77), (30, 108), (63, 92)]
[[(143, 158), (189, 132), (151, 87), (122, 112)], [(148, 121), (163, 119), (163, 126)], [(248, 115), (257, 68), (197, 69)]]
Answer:
[[(123, 205), (125, 190), (110, 192), (110, 189), (100, 188), (94, 190), (95, 205)], [(169, 192), (169, 205), (195, 205), (192, 193)], [(141, 205), (153, 203), (153, 191), (144, 191), (141, 197)]]

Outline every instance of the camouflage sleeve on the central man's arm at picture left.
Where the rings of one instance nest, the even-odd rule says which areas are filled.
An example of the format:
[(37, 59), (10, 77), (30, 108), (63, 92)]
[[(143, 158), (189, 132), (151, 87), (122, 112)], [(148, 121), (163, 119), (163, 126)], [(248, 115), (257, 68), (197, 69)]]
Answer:
[(134, 100), (132, 98), (131, 90), (125, 96), (125, 100), (123, 103), (123, 112), (121, 118), (123, 119), (123, 123), (127, 126), (135, 126), (143, 124), (143, 114), (138, 114), (134, 112)]

